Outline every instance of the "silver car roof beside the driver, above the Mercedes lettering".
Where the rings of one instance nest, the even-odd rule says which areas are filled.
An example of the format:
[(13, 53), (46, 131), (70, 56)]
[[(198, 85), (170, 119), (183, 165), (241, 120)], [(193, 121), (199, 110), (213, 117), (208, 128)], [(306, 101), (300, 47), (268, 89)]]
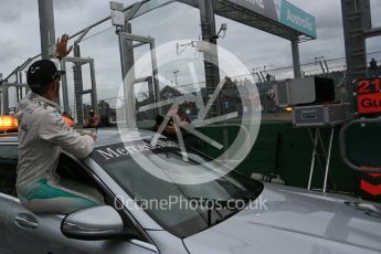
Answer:
[[(97, 140), (95, 147), (103, 147), (112, 144), (118, 144), (123, 141), (137, 141), (142, 139), (151, 139), (155, 133), (142, 129), (98, 129)], [(160, 136), (160, 138), (165, 138)], [(18, 142), (19, 137), (17, 133), (0, 135), (0, 144), (3, 142)]]

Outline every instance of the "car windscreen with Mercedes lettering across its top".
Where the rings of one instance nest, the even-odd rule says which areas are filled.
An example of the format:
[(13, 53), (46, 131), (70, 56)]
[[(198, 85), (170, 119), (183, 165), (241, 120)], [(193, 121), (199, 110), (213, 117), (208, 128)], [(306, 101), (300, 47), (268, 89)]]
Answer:
[[(160, 168), (163, 176), (173, 171), (181, 173), (189, 170), (189, 166), (194, 174), (216, 173), (218, 167), (213, 168), (210, 158), (195, 150), (188, 149), (187, 154), (188, 160), (184, 160), (181, 149), (171, 141), (159, 140), (158, 145), (150, 146), (149, 140), (140, 140), (98, 147), (92, 158), (157, 223), (178, 237), (226, 220), (261, 193), (261, 182), (235, 171), (200, 184), (179, 184), (170, 177), (158, 178), (142, 167), (149, 161)], [(240, 201), (240, 205), (235, 201)]]

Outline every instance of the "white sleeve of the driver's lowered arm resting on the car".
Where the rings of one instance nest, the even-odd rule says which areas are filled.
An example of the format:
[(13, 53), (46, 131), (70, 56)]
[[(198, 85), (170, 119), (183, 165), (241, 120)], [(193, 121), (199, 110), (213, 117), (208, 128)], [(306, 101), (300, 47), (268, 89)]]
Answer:
[(88, 135), (81, 136), (75, 133), (56, 110), (44, 114), (41, 123), (38, 134), (41, 139), (57, 145), (78, 158), (85, 158), (93, 152), (94, 139)]

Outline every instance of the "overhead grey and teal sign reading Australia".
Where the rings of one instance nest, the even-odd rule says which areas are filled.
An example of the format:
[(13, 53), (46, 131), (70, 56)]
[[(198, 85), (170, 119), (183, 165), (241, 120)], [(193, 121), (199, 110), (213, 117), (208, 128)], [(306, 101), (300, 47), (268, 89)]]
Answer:
[(286, 0), (230, 0), (230, 2), (275, 20), (314, 39), (317, 38), (315, 17)]

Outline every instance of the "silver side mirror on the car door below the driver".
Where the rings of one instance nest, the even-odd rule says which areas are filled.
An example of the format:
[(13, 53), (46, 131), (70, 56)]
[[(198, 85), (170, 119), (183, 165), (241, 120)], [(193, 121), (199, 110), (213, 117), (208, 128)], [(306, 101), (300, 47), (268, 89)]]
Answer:
[(120, 235), (124, 223), (119, 213), (112, 207), (93, 207), (68, 214), (61, 225), (68, 239), (107, 240)]

